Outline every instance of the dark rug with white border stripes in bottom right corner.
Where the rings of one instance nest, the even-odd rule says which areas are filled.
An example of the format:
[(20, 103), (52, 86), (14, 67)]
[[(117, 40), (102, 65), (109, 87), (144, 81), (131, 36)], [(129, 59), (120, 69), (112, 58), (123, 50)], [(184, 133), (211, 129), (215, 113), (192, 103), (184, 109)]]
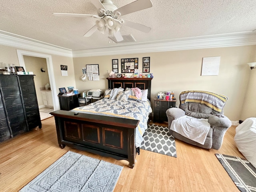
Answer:
[(256, 191), (256, 168), (239, 157), (215, 154), (228, 175), (242, 192)]

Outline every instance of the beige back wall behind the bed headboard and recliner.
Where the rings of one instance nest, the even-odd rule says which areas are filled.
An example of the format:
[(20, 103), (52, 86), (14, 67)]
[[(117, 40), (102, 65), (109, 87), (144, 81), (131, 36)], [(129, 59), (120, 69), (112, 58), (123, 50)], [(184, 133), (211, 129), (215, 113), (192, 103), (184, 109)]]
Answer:
[[(225, 94), (229, 100), (224, 108), (230, 120), (239, 120), (243, 101), (250, 77), (250, 68), (246, 64), (254, 58), (256, 46), (229, 48), (210, 48), (200, 50), (182, 50), (143, 54), (126, 54), (113, 56), (95, 56), (73, 58), (76, 86), (79, 91), (92, 88), (108, 88), (107, 70), (112, 69), (112, 59), (118, 59), (120, 73), (121, 58), (139, 58), (142, 70), (142, 57), (150, 57), (150, 72), (153, 73), (151, 98), (158, 92), (174, 91), (178, 98), (184, 90), (206, 90)], [(220, 56), (220, 69), (217, 76), (201, 76), (203, 57)], [(83, 82), (82, 68), (86, 64), (99, 64), (100, 81)], [(250, 96), (249, 96), (250, 97)], [(178, 102), (179, 104), (179, 102)]]

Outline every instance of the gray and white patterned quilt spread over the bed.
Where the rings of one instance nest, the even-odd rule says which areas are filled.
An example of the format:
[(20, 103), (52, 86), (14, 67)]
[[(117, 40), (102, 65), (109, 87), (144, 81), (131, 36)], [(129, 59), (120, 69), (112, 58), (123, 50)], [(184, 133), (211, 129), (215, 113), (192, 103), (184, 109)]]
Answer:
[(148, 116), (152, 112), (152, 108), (149, 101), (120, 101), (103, 98), (92, 104), (74, 108), (71, 111), (140, 120), (136, 127), (135, 136), (135, 146), (140, 147), (143, 141), (142, 135), (148, 128)]

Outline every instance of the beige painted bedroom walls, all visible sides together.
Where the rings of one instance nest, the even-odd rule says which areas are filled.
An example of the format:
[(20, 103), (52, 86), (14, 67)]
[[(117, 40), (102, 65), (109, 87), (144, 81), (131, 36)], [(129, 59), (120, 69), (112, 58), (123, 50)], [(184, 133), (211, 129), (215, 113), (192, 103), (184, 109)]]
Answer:
[[(0, 45), (0, 62), (18, 64), (16, 48)], [(138, 53), (112, 56), (68, 58), (52, 55), (56, 89), (74, 86), (79, 92), (92, 88), (108, 88), (107, 70), (112, 69), (112, 59), (118, 59), (120, 73), (121, 58), (139, 58), (142, 69), (142, 57), (150, 57), (150, 72), (153, 73), (152, 95), (158, 92), (174, 91), (176, 98), (183, 90), (207, 90), (229, 97), (225, 106), (225, 115), (230, 120), (256, 116), (254, 82), (256, 71), (250, 70), (247, 62), (256, 61), (256, 46), (228, 48), (210, 48), (155, 53)], [(201, 76), (202, 58), (220, 56), (218, 76)], [(60, 65), (68, 65), (68, 76), (61, 76)], [(99, 64), (100, 81), (83, 82), (82, 68), (86, 64)], [(250, 78), (250, 82), (249, 82)], [(249, 82), (249, 83), (248, 83)], [(178, 103), (179, 104), (179, 103)]]

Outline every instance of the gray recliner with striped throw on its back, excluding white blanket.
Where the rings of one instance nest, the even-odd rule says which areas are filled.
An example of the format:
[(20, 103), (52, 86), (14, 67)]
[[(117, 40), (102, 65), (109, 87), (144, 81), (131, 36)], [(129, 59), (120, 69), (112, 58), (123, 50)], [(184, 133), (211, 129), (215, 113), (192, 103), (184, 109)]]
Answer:
[[(180, 94), (179, 98), (180, 108), (169, 108), (166, 111), (170, 134), (172, 134), (174, 138), (192, 145), (206, 149), (220, 149), (222, 146), (224, 134), (232, 125), (231, 121), (223, 115), (223, 107), (228, 98), (224, 95), (205, 91), (185, 91)], [(210, 129), (204, 144), (190, 140), (181, 134), (170, 130), (172, 121), (184, 115), (194, 118), (208, 119)]]

